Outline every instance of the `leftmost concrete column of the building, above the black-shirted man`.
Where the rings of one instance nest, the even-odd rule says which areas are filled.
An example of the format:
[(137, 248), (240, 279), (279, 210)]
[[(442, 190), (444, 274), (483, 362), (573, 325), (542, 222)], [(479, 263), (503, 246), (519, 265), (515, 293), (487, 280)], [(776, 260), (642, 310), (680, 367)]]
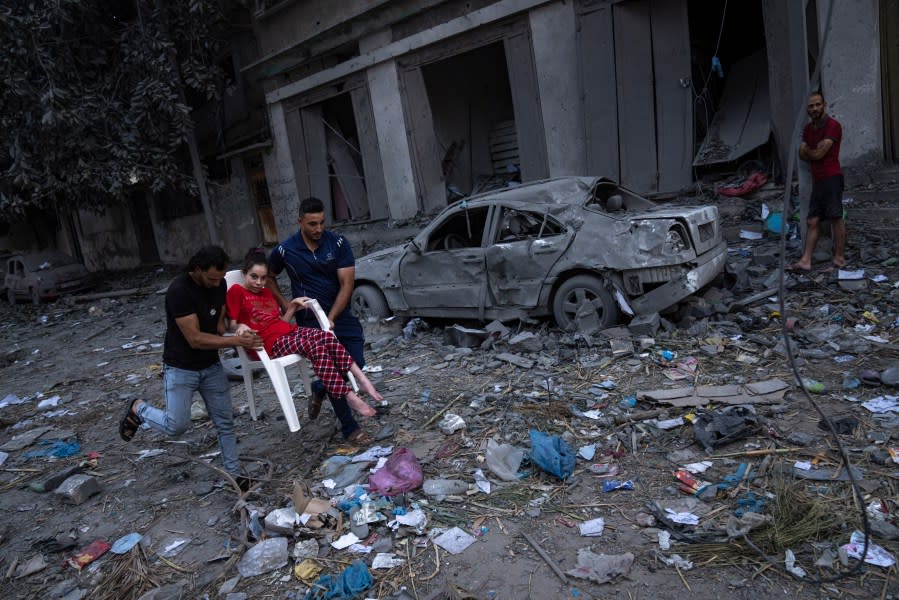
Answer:
[(293, 167), (293, 156), (290, 151), (284, 104), (282, 102), (269, 104), (269, 115), (272, 128), (272, 148), (263, 155), (262, 159), (272, 200), (272, 214), (275, 217), (278, 239), (283, 240), (296, 231), (300, 198), (296, 185), (297, 174)]

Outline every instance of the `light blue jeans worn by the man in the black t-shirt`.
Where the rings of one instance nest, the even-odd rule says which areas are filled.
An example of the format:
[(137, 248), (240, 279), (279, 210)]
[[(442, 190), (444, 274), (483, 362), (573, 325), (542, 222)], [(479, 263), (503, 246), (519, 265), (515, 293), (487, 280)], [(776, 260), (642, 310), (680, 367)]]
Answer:
[(164, 365), (165, 410), (144, 402), (137, 415), (144, 427), (152, 427), (166, 435), (180, 435), (190, 427), (190, 401), (200, 392), (206, 411), (218, 432), (222, 450), (222, 464), (231, 475), (240, 474), (237, 455), (237, 436), (234, 433), (234, 410), (231, 407), (231, 386), (221, 363), (201, 371), (188, 371)]

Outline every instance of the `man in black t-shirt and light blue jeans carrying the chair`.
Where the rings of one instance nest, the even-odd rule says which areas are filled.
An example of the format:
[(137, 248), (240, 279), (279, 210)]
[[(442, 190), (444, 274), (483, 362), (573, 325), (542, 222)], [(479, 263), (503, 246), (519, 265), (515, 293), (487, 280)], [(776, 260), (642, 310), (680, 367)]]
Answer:
[(166, 332), (162, 352), (165, 410), (134, 400), (119, 424), (119, 434), (129, 442), (142, 425), (168, 435), (184, 433), (190, 425), (191, 398), (198, 391), (218, 432), (225, 470), (246, 488), (249, 481), (238, 476), (240, 463), (230, 384), (218, 351), (235, 346), (259, 348), (262, 340), (247, 328), (238, 331), (239, 335), (222, 337), (227, 263), (224, 250), (206, 246), (191, 257), (187, 272), (169, 285), (165, 295)]

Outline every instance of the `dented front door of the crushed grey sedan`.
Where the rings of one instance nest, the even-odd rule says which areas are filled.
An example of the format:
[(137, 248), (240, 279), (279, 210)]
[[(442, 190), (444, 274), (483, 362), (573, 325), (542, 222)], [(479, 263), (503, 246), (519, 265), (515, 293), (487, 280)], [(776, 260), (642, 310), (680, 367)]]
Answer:
[(484, 237), (490, 206), (444, 213), (410, 245), (399, 266), (412, 314), (477, 315), (484, 303)]

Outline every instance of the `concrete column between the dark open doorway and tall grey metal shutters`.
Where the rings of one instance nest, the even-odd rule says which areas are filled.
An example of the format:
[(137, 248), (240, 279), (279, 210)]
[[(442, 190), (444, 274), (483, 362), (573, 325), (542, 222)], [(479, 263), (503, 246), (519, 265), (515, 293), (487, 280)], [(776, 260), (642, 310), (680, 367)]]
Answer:
[(578, 91), (574, 3), (554, 2), (529, 14), (550, 177), (586, 174), (584, 117)]

